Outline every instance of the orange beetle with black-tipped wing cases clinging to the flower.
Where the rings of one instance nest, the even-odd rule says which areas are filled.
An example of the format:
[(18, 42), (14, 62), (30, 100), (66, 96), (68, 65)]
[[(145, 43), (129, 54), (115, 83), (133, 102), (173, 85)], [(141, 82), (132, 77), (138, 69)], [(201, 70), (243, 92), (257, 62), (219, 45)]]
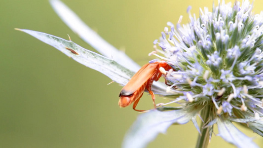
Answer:
[(157, 81), (161, 77), (162, 73), (159, 70), (161, 67), (166, 71), (172, 69), (167, 63), (157, 61), (144, 65), (136, 74), (134, 74), (119, 93), (119, 106), (124, 108), (134, 102), (133, 110), (142, 111), (136, 110), (135, 108), (140, 98), (143, 96), (144, 90), (147, 89), (151, 95), (154, 108), (156, 109), (154, 102), (155, 96), (151, 91), (151, 84), (153, 80)]

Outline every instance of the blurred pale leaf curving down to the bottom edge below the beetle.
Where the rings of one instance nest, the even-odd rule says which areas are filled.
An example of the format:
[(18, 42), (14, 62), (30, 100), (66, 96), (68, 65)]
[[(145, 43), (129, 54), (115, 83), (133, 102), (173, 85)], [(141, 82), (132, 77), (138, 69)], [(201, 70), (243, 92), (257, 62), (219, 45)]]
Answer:
[(122, 148), (145, 148), (159, 133), (165, 133), (170, 125), (195, 121), (202, 108), (193, 108), (175, 111), (152, 110), (141, 114), (124, 137)]

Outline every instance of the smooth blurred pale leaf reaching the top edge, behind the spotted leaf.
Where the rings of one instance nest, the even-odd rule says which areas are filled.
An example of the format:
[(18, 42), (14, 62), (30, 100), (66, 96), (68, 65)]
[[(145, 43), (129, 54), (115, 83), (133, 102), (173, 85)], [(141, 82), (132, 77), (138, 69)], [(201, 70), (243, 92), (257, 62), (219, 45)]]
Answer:
[(140, 66), (130, 59), (124, 52), (119, 51), (96, 32), (89, 28), (67, 5), (60, 0), (50, 0), (50, 3), (63, 20), (79, 37), (99, 51), (102, 55), (113, 59), (120, 65), (137, 72)]

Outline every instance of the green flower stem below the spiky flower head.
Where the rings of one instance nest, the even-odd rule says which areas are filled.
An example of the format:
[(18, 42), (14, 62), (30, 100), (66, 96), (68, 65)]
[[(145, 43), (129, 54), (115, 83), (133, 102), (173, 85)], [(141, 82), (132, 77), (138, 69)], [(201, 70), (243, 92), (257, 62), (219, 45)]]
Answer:
[[(209, 114), (210, 114), (211, 106), (207, 105), (202, 111), (201, 111), (201, 117), (204, 120), (204, 123), (208, 121)], [(197, 143), (195, 148), (207, 148), (209, 144), (209, 128), (203, 128), (204, 123), (201, 123), (200, 131), (201, 134), (199, 134)]]

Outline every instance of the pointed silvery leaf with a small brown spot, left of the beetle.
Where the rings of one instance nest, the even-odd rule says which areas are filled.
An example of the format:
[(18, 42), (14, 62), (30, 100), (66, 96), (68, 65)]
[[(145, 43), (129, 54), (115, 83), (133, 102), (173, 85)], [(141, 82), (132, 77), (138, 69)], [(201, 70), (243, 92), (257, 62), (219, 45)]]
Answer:
[(83, 64), (91, 69), (101, 72), (110, 77), (114, 82), (125, 85), (129, 78), (134, 74), (125, 67), (119, 65), (115, 61), (108, 59), (95, 52), (89, 51), (80, 47), (71, 40), (66, 40), (60, 37), (55, 37), (41, 32), (17, 29), (25, 32), (39, 40), (57, 48), (67, 56), (71, 57), (80, 64)]

